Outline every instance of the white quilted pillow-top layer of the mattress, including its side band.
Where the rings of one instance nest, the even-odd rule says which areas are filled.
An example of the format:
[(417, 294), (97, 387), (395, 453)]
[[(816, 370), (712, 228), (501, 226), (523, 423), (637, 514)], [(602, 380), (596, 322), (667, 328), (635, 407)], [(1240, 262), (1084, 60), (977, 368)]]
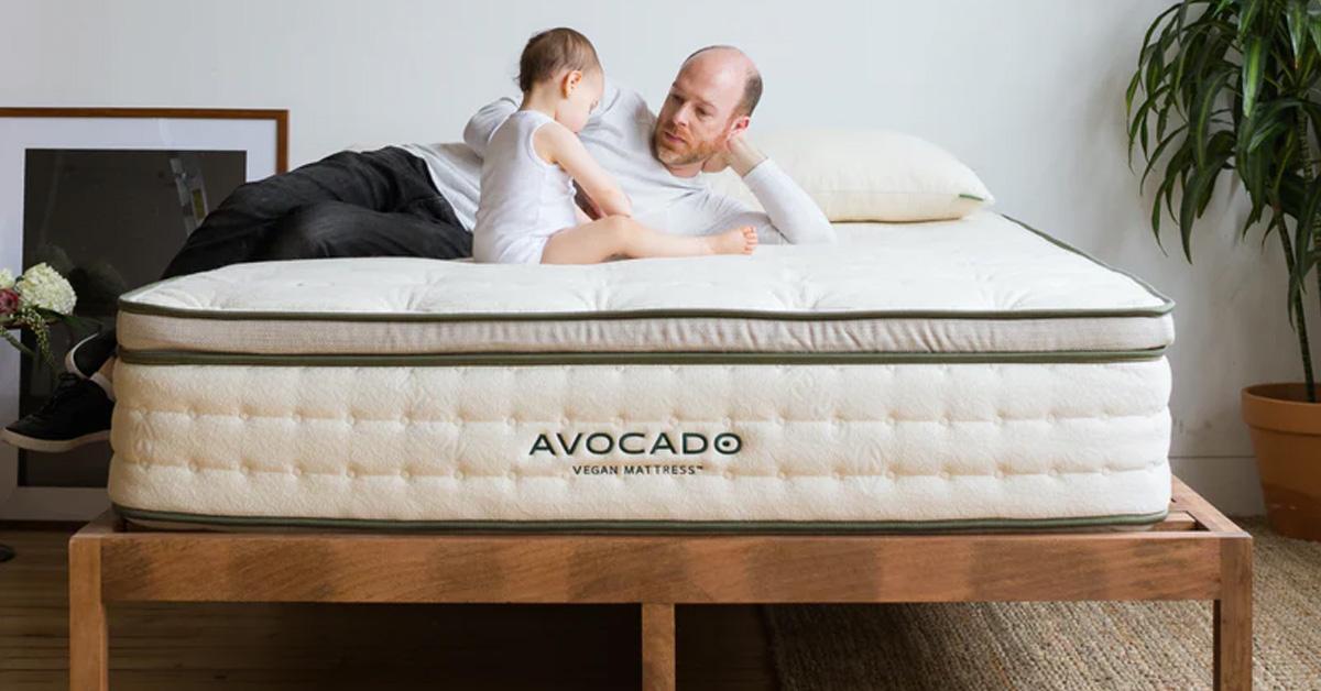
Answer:
[(266, 262), (120, 299), (128, 353), (1141, 353), (1173, 303), (1005, 217), (847, 223), (832, 246), (597, 266)]

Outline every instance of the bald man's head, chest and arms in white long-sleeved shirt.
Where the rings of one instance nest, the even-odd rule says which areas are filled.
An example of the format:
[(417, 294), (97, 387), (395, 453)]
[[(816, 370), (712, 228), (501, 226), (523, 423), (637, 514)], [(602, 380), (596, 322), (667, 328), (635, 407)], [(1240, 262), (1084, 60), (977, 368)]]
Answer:
[[(744, 137), (761, 91), (761, 74), (748, 55), (732, 46), (703, 48), (679, 67), (659, 115), (635, 91), (606, 85), (579, 139), (647, 226), (709, 235), (752, 225), (762, 243), (834, 242), (820, 207)], [(485, 155), (491, 135), (517, 110), (511, 98), (486, 106), (468, 123), (464, 141)], [(742, 177), (765, 214), (712, 193), (697, 174), (725, 166)]]

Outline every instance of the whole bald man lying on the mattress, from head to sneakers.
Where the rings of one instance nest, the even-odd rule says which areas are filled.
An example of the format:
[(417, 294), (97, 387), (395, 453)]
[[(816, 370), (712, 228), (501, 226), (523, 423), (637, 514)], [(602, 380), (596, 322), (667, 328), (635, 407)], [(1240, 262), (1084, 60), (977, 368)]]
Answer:
[[(659, 115), (637, 92), (610, 85), (580, 137), (653, 227), (697, 235), (752, 225), (762, 243), (834, 242), (820, 209), (744, 136), (761, 91), (761, 74), (742, 52), (704, 48), (683, 62)], [(243, 185), (189, 236), (164, 277), (239, 262), (469, 256), (480, 156), (517, 108), (501, 99), (478, 111), (464, 131), (470, 151), (413, 144), (339, 152)], [(699, 173), (727, 166), (766, 213), (707, 189)], [(50, 402), (0, 439), (48, 452), (107, 439), (114, 347), (114, 330), (75, 345)]]

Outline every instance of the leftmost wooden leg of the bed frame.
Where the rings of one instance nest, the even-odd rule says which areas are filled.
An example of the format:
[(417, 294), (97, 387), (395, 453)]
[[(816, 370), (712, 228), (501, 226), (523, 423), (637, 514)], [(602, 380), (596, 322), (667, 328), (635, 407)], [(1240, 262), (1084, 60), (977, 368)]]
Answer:
[(69, 688), (110, 690), (110, 637), (100, 599), (100, 540), (69, 540)]

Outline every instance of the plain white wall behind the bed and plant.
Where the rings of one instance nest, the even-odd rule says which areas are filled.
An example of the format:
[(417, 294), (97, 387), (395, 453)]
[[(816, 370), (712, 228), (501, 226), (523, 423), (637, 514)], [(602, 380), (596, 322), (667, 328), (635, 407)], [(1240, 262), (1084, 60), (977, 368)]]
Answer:
[(922, 135), (976, 168), (1000, 210), (1172, 296), (1176, 469), (1227, 510), (1254, 511), (1239, 388), (1301, 377), (1283, 262), (1275, 243), (1235, 244), (1240, 203), (1213, 207), (1194, 267), (1172, 234), (1170, 256), (1156, 248), (1125, 165), (1123, 91), (1166, 4), (0, 0), (0, 104), (285, 107), (300, 164), (350, 143), (457, 139), (476, 107), (511, 90), (539, 28), (585, 32), (606, 71), (653, 103), (688, 52), (736, 44), (766, 78), (753, 132)]

